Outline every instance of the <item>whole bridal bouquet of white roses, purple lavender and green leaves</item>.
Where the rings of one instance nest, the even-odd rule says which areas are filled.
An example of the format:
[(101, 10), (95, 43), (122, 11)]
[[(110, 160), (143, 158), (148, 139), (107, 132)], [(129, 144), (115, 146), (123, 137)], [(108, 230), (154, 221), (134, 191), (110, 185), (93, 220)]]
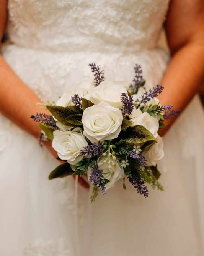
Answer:
[(178, 114), (172, 105), (161, 106), (156, 98), (163, 86), (145, 90), (145, 80), (139, 65), (131, 85), (106, 81), (104, 72), (95, 63), (89, 64), (92, 82), (84, 80), (65, 92), (56, 104), (47, 105), (52, 115), (31, 116), (65, 161), (49, 175), (49, 179), (67, 175), (88, 175), (93, 184), (94, 201), (123, 179), (138, 193), (148, 196), (145, 183), (163, 190), (157, 161), (163, 153), (163, 141), (158, 130), (163, 120)]

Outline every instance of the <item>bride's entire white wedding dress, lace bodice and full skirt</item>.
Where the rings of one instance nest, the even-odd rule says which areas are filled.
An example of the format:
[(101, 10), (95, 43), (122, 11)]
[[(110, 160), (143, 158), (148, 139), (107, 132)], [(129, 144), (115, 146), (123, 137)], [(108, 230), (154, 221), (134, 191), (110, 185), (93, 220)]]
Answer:
[[(9, 40), (1, 53), (44, 101), (92, 77), (91, 62), (107, 79), (129, 83), (139, 63), (150, 88), (160, 83), (169, 60), (156, 47), (168, 4), (10, 0)], [(144, 198), (128, 181), (123, 190), (121, 181), (90, 204), (90, 192), (72, 177), (49, 181), (58, 161), (0, 116), (0, 255), (204, 255), (203, 127), (195, 96), (164, 138), (158, 167), (165, 191), (150, 188)]]

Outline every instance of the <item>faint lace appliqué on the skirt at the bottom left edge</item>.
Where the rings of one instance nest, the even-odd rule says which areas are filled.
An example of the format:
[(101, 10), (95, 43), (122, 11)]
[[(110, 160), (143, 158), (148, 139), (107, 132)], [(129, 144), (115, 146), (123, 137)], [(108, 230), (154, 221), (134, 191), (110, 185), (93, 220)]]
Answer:
[(57, 241), (37, 240), (24, 250), (23, 256), (73, 256), (63, 238)]

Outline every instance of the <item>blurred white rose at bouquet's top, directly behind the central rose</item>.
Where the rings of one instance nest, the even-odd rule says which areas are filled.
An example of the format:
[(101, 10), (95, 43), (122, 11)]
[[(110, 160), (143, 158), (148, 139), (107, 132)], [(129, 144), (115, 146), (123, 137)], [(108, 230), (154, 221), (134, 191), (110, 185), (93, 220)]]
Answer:
[(127, 93), (124, 82), (104, 81), (91, 88), (86, 98), (94, 104), (106, 102), (115, 108), (122, 108), (121, 93)]

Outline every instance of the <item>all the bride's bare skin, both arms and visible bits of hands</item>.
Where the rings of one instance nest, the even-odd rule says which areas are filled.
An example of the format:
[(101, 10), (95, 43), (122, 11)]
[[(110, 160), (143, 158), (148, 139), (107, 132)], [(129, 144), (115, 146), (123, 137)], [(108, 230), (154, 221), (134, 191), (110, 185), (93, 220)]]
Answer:
[[(0, 0), (0, 37), (7, 20), (7, 1)], [(173, 104), (183, 110), (193, 98), (204, 74), (204, 1), (171, 0), (165, 23), (166, 36), (171, 51), (171, 61), (162, 80), (165, 90), (159, 95), (162, 105)], [(41, 112), (37, 102), (40, 99), (11, 70), (0, 57), (0, 111), (22, 129), (40, 136), (38, 123), (31, 120), (33, 113)], [(45, 111), (49, 114), (49, 111)], [(161, 131), (164, 135), (173, 121)], [(45, 143), (56, 158), (51, 142)], [(82, 178), (80, 185), (88, 188)]]

